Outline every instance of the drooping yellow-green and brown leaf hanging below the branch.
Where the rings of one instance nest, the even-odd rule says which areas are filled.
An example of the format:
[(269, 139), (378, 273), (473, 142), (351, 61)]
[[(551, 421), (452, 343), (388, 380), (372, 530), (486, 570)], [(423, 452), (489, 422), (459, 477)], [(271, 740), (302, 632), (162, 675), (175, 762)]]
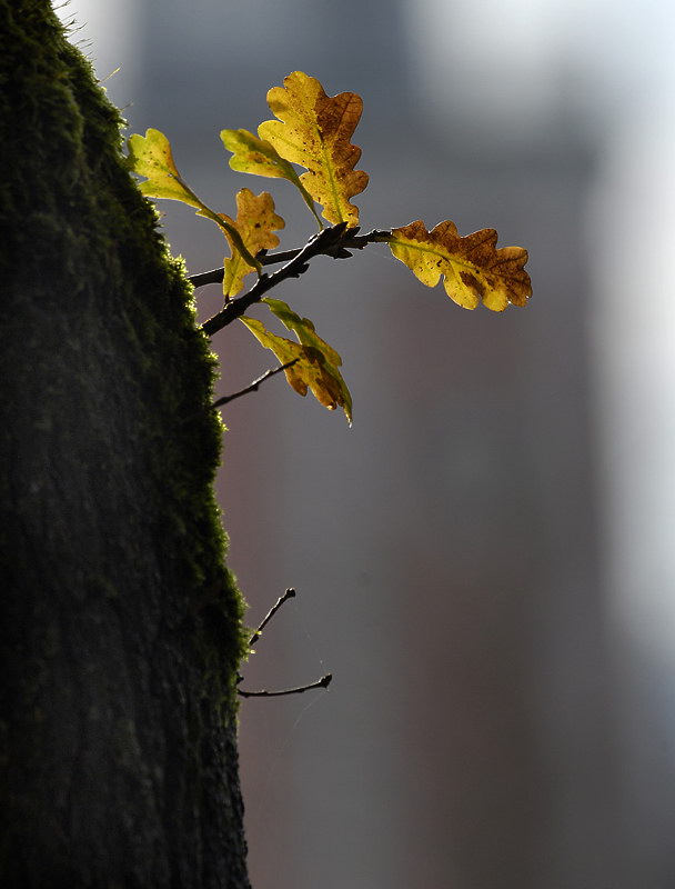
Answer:
[[(314, 332), (314, 326), (306, 318), (300, 318), (281, 300), (265, 300), (270, 303), (280, 303), (285, 307), (281, 310), (280, 317), (285, 312), (285, 317), (296, 326), (302, 336), (303, 342), (293, 342), (285, 337), (278, 337), (265, 330), (264, 324), (254, 318), (242, 317), (240, 320), (249, 328), (253, 336), (266, 348), (271, 349), (282, 364), (298, 359), (291, 368), (286, 368), (284, 373), (289, 386), (299, 394), (306, 396), (310, 389), (316, 400), (329, 410), (342, 408), (351, 426), (352, 423), (352, 397), (338, 367), (342, 359), (334, 349), (331, 349)], [(272, 308), (272, 307), (270, 307)], [(293, 318), (291, 318), (293, 316)], [(295, 319), (298, 319), (295, 321)], [(283, 320), (283, 319), (282, 319)], [(293, 327), (295, 330), (295, 327)], [(336, 361), (336, 363), (335, 363)]]

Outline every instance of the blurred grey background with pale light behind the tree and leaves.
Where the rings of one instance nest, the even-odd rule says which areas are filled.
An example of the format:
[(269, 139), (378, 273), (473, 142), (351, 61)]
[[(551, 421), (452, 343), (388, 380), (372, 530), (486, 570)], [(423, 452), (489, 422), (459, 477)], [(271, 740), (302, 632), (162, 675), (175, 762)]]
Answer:
[[(354, 426), (281, 377), (224, 410), (219, 493), (254, 626), (241, 765), (255, 889), (675, 886), (675, 7), (666, 0), (72, 0), (130, 132), (214, 209), (285, 74), (352, 90), (364, 230), (530, 250), (464, 311), (385, 247), (274, 292), (344, 359)], [(190, 271), (223, 241), (161, 202)], [(200, 312), (220, 308), (218, 287)], [(265, 319), (262, 310), (258, 311)], [(214, 337), (220, 392), (275, 360)]]

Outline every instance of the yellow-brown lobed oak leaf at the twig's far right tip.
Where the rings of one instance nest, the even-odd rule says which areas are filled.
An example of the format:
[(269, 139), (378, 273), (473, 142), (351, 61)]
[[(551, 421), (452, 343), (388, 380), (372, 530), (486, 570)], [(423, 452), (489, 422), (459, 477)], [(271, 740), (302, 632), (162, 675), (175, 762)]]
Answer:
[(522, 247), (495, 249), (497, 233), (482, 229), (461, 237), (453, 222), (445, 221), (427, 231), (421, 220), (392, 231), (392, 253), (427, 287), (444, 276), (447, 296), (465, 309), (481, 301), (501, 312), (508, 303), (525, 306), (532, 296), (530, 276), (524, 269), (527, 251)]

